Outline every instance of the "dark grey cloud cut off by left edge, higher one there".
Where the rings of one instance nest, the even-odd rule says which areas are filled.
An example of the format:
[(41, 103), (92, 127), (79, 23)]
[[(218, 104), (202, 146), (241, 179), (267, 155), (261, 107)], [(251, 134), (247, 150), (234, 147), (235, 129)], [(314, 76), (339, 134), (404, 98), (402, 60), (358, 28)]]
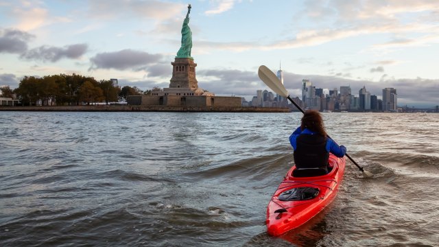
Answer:
[(0, 30), (0, 53), (22, 54), (32, 38), (32, 34), (20, 30)]

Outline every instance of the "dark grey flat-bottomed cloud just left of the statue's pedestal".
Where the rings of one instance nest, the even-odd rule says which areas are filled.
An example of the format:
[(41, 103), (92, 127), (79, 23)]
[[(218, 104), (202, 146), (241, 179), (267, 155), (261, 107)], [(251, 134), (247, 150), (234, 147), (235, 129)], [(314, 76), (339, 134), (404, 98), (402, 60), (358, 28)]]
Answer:
[(163, 56), (161, 54), (149, 54), (144, 51), (123, 49), (115, 52), (104, 52), (90, 58), (92, 63), (88, 71), (96, 69), (118, 69), (139, 71), (145, 69), (147, 64), (156, 64)]

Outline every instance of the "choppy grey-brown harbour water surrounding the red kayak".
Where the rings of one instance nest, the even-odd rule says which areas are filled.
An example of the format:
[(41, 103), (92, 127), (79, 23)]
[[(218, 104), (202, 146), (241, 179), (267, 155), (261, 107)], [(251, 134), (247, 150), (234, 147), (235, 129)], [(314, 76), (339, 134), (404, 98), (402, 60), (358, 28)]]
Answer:
[(0, 112), (0, 246), (438, 246), (439, 115), (323, 115), (375, 176), (274, 238), (301, 113)]

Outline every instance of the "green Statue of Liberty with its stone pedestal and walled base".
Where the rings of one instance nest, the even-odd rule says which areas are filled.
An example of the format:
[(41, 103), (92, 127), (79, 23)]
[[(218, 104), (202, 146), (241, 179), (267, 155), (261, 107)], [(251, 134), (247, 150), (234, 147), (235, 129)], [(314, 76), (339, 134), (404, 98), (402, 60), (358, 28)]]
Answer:
[[(172, 77), (169, 88), (154, 91), (151, 95), (130, 95), (127, 97), (128, 105), (161, 110), (182, 108), (185, 111), (259, 111), (258, 108), (244, 108), (241, 97), (216, 96), (215, 93), (198, 86), (195, 69), (197, 64), (191, 56), (192, 32), (189, 27), (191, 8), (189, 4), (181, 29), (181, 46), (174, 62), (171, 62)], [(264, 112), (289, 111), (287, 108), (259, 109)]]

